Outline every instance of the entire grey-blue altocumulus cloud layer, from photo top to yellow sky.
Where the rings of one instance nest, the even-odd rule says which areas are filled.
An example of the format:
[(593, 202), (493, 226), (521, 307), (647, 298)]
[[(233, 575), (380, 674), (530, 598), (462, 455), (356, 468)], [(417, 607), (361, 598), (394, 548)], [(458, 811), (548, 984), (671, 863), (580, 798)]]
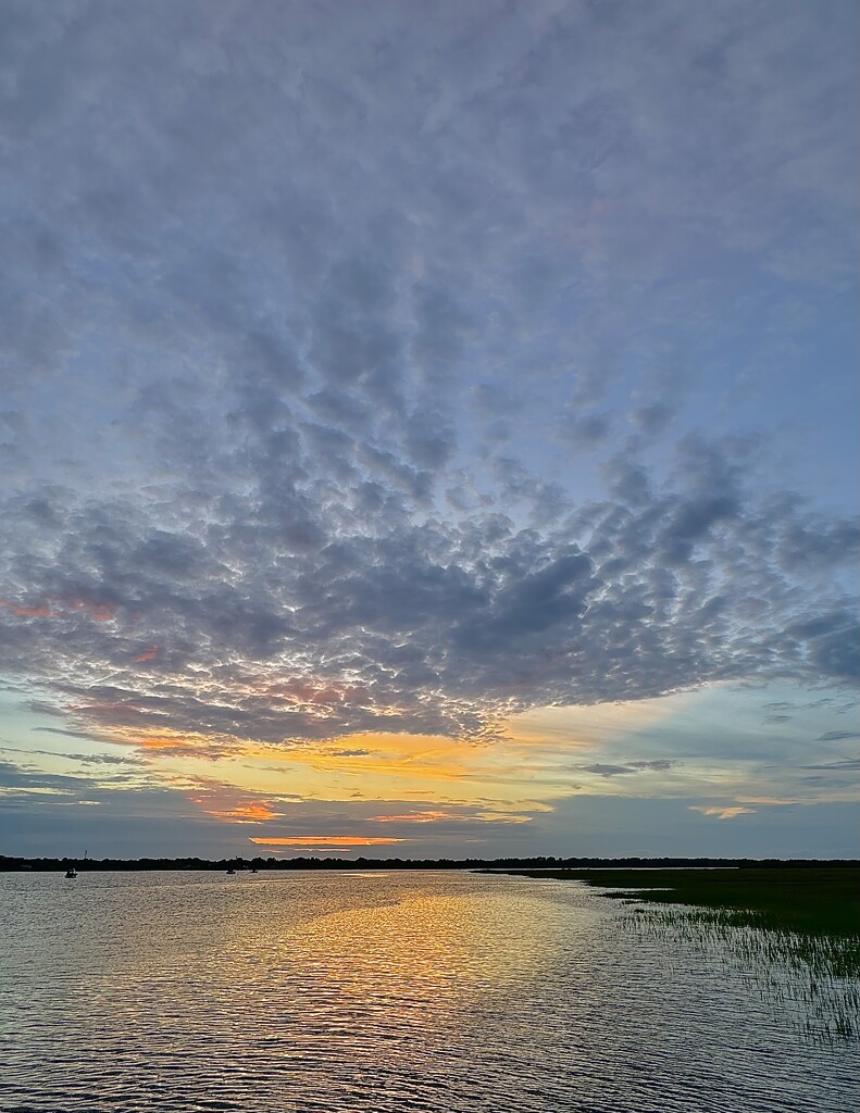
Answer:
[(843, 289), (839, 29), (683, 7), (7, 4), (0, 668), (227, 748), (854, 682), (857, 525), (665, 373), (798, 196)]

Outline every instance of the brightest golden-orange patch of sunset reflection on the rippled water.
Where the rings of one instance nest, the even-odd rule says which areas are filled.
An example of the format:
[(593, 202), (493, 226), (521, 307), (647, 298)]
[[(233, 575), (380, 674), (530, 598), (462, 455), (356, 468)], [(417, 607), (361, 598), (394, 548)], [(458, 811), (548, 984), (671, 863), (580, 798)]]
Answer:
[[(264, 994), (291, 1003), (292, 1054), (334, 1041), (367, 1067), (395, 1047), (438, 1053), (470, 1024), (472, 1004), (516, 992), (573, 943), (569, 915), (536, 897), (387, 892), (381, 878), (360, 884), (380, 886), (383, 903), (350, 904), (256, 940), (266, 955)], [(257, 992), (246, 964), (234, 973), (242, 992)], [(255, 1035), (271, 1041), (285, 1012), (261, 1008), (261, 999)]]

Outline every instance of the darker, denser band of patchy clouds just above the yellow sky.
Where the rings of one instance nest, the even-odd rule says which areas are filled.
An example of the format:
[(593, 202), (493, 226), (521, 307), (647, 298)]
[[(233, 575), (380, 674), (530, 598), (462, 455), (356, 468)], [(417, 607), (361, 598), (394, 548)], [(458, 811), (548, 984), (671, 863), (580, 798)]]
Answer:
[[(687, 441), (683, 456), (707, 471), (540, 532), (499, 513), (418, 524), (417, 504), (390, 486), (360, 529), (333, 531), (311, 484), (301, 504), (315, 540), (297, 546), (272, 524), (280, 490), (255, 495), (251, 514), (243, 503), (169, 534), (160, 504), (128, 499), (58, 505), (61, 525), (47, 532), (11, 508), (19, 610), (70, 594), (89, 603), (7, 609), (3, 667), (42, 684), (80, 729), (266, 741), (480, 736), (547, 703), (749, 677), (851, 682), (849, 601), (830, 581), (801, 593), (779, 571), (791, 526), (755, 509), (722, 451)], [(94, 622), (102, 608), (110, 619)], [(155, 637), (158, 652), (140, 653)]]

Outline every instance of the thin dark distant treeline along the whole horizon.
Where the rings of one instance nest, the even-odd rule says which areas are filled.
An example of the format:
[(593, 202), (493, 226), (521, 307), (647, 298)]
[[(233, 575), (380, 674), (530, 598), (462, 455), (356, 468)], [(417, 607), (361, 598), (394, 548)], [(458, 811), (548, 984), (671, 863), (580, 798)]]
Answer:
[(857, 866), (839, 858), (12, 858), (0, 855), (0, 871), (68, 869), (762, 869)]

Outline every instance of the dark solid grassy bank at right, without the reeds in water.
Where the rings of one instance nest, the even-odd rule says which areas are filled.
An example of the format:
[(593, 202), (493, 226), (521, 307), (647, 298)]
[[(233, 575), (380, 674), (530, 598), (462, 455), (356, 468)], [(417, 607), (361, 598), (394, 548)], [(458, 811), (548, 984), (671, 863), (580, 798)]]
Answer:
[[(508, 870), (506, 870), (508, 873)], [(527, 877), (586, 881), (606, 896), (734, 909), (740, 924), (800, 935), (860, 936), (860, 868), (517, 869)], [(633, 892), (629, 892), (629, 890)]]

